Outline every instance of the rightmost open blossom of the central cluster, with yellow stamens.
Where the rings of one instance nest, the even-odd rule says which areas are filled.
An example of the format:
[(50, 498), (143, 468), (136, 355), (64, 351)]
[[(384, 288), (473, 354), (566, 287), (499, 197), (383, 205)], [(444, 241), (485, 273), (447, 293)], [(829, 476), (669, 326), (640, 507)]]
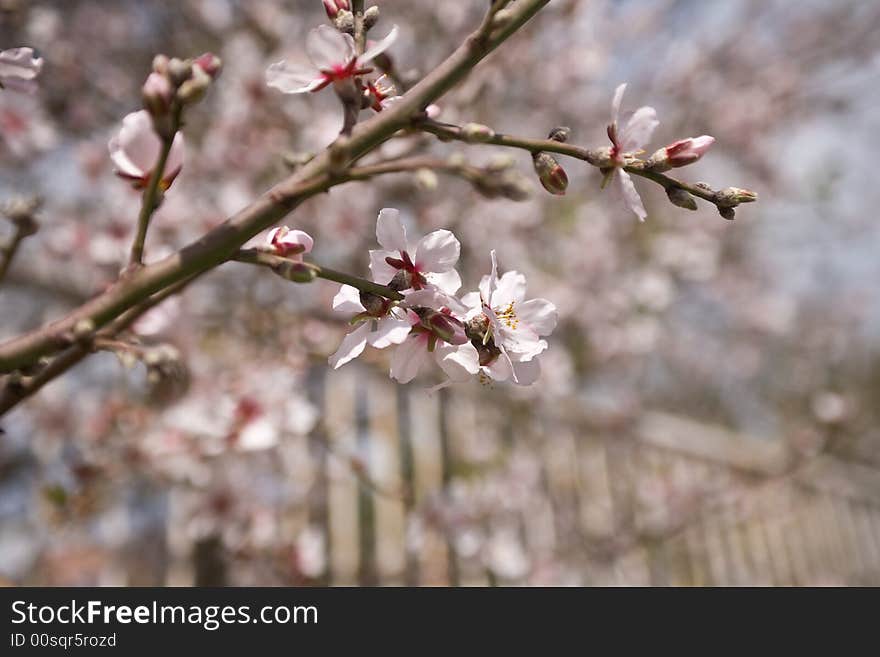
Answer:
[(480, 291), (462, 297), (469, 325), (483, 333), (480, 364), (496, 381), (530, 385), (541, 371), (536, 357), (548, 346), (542, 336), (556, 328), (556, 306), (546, 299), (526, 301), (525, 276), (508, 271), (499, 278), (494, 250), (491, 257), (492, 273), (483, 277)]

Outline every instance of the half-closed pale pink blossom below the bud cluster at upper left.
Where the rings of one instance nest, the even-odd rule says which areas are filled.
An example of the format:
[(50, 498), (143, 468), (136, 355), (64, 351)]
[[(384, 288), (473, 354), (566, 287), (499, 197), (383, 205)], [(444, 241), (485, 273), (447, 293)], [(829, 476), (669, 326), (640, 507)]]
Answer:
[[(141, 110), (126, 116), (122, 120), (122, 129), (110, 140), (108, 147), (116, 175), (132, 181), (135, 189), (146, 187), (162, 149), (162, 140), (153, 130), (150, 113)], [(183, 134), (178, 132), (165, 163), (161, 181), (163, 189), (171, 186), (183, 168), (183, 148)]]

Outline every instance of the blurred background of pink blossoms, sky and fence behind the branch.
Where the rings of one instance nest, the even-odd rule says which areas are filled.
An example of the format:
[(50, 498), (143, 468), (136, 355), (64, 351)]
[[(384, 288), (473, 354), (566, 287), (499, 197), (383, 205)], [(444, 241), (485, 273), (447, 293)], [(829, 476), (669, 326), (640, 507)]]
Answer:
[[(414, 81), (486, 3), (384, 0), (374, 33)], [(268, 89), (326, 22), (317, 0), (0, 0), (0, 48), (40, 90), (0, 92), (0, 200), (41, 229), (0, 287), (0, 338), (115, 279), (139, 195), (107, 141), (156, 53), (223, 74), (147, 260), (197, 238), (326, 146), (333, 94)], [(229, 263), (137, 326), (161, 365), (90, 357), (2, 419), (0, 577), (45, 585), (880, 584), (880, 4), (553, 0), (439, 103), (441, 120), (605, 144), (614, 88), (657, 108), (651, 150), (711, 134), (679, 170), (759, 193), (735, 221), (636, 180), (648, 220), (561, 160), (411, 135), (375, 157), (509, 167), (529, 200), (421, 173), (351, 183), (286, 223), (367, 274), (378, 210), (453, 230), (475, 288), (489, 250), (560, 323), (530, 388), (398, 386), (388, 353), (328, 371), (346, 330), (326, 281)], [(366, 114), (364, 115), (366, 118)], [(505, 158), (509, 158), (506, 160)], [(0, 223), (0, 237), (11, 227)]]

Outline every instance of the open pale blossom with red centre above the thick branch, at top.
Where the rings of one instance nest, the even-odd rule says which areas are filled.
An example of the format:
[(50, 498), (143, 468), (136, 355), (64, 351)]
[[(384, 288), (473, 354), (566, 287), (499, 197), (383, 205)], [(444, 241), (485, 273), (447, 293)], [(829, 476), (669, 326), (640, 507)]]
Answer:
[(306, 37), (306, 53), (313, 66), (288, 64), (282, 60), (266, 70), (266, 84), (282, 93), (301, 94), (319, 91), (372, 71), (367, 67), (374, 57), (385, 52), (397, 39), (397, 26), (384, 39), (357, 56), (354, 39), (329, 25), (320, 25)]

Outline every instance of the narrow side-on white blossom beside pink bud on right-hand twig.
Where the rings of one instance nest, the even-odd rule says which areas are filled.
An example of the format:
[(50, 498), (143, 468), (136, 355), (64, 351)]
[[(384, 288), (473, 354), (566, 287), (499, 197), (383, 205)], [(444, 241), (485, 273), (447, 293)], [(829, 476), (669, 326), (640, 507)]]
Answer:
[(653, 107), (644, 106), (637, 109), (627, 121), (626, 127), (620, 130), (618, 118), (624, 91), (626, 91), (626, 84), (618, 86), (614, 91), (614, 99), (611, 101), (611, 123), (608, 125), (608, 138), (611, 139), (611, 158), (614, 161), (614, 167), (606, 176), (602, 186), (607, 185), (610, 178), (616, 176), (620, 183), (624, 204), (636, 214), (639, 221), (644, 221), (648, 213), (645, 212), (645, 206), (642, 204), (642, 199), (636, 191), (632, 178), (622, 167), (626, 163), (627, 155), (640, 151), (650, 141), (654, 129), (660, 122), (657, 120), (656, 110)]

